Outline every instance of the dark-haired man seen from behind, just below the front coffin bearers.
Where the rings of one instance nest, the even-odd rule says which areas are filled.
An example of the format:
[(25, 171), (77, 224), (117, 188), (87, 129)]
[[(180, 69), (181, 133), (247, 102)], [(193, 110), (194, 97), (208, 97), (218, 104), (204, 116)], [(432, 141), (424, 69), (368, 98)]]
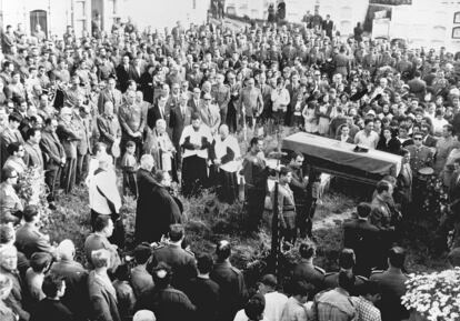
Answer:
[(293, 269), (293, 281), (304, 281), (314, 287), (312, 295), (324, 289), (324, 270), (313, 264), (317, 248), (311, 242), (304, 242), (299, 247), (302, 258)]

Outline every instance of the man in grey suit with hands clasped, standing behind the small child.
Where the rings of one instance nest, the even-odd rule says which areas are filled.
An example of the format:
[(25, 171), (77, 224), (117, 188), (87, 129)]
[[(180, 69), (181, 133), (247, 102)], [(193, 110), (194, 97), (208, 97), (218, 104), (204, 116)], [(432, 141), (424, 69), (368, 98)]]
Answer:
[(124, 146), (128, 141), (136, 142), (136, 152), (139, 158), (142, 150), (142, 133), (147, 123), (147, 110), (142, 109), (140, 103), (136, 102), (136, 92), (127, 92), (127, 102), (120, 107), (121, 124), (121, 149), (124, 152)]

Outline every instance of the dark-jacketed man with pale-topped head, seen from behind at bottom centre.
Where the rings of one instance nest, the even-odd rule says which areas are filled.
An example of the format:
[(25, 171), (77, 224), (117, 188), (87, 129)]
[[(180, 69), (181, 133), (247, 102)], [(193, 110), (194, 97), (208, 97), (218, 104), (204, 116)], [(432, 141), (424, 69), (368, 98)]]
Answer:
[(210, 278), (220, 287), (221, 305), (218, 314), (221, 321), (232, 321), (248, 298), (243, 274), (230, 263), (230, 242), (219, 241), (216, 248), (217, 262)]

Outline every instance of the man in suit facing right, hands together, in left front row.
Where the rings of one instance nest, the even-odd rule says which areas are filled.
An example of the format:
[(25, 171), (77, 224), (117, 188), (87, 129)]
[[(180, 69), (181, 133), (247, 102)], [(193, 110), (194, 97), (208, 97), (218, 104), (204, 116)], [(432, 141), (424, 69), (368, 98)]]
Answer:
[(56, 133), (58, 121), (56, 119), (47, 119), (44, 129), (41, 133), (40, 148), (44, 157), (44, 182), (48, 185), (48, 201), (50, 207), (54, 207), (56, 184), (61, 177), (61, 169), (66, 164), (66, 152)]

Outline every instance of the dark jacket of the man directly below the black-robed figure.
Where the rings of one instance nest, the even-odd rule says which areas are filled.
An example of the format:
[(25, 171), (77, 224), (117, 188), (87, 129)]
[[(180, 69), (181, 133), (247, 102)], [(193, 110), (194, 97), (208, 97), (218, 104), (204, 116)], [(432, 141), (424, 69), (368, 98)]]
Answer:
[(173, 273), (172, 287), (178, 290), (184, 291), (188, 288), (189, 281), (197, 277), (193, 253), (178, 244), (171, 243), (154, 249), (147, 263), (147, 270), (151, 271), (159, 262), (164, 262), (171, 267)]

